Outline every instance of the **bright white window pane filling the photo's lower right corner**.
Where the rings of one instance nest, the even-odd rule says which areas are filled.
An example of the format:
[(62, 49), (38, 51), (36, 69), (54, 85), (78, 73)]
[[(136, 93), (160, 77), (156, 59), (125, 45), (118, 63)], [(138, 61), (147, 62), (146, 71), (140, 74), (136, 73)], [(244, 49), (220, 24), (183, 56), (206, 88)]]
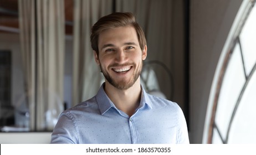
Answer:
[(256, 73), (250, 79), (235, 113), (228, 143), (256, 143)]

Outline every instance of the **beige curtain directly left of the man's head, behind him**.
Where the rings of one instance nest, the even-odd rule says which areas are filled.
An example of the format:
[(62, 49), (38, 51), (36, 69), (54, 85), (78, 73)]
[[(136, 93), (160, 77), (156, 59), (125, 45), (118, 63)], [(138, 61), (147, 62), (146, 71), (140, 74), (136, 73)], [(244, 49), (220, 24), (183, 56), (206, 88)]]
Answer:
[(93, 97), (102, 75), (90, 45), (90, 29), (112, 11), (112, 0), (74, 0), (73, 102), (72, 106)]

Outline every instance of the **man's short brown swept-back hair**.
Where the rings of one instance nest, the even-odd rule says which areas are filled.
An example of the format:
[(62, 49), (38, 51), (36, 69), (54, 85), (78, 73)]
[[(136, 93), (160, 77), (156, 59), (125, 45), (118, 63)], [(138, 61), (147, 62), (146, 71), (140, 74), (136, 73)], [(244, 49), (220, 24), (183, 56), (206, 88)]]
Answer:
[(140, 27), (140, 25), (136, 22), (135, 17), (132, 13), (126, 12), (115, 12), (111, 13), (107, 16), (101, 17), (98, 22), (96, 22), (91, 28), (91, 48), (96, 51), (97, 55), (99, 55), (99, 47), (98, 40), (99, 34), (106, 29), (117, 28), (117, 27), (126, 27), (132, 26), (135, 28), (137, 37), (139, 40), (141, 50), (144, 49), (146, 43), (145, 34)]

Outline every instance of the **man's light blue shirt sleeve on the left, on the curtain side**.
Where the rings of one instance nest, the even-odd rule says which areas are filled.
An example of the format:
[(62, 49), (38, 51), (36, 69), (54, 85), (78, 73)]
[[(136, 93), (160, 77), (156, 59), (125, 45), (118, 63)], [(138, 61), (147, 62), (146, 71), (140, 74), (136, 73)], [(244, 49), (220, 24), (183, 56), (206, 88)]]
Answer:
[(74, 117), (70, 112), (62, 113), (54, 127), (50, 143), (74, 144), (79, 143), (79, 132)]

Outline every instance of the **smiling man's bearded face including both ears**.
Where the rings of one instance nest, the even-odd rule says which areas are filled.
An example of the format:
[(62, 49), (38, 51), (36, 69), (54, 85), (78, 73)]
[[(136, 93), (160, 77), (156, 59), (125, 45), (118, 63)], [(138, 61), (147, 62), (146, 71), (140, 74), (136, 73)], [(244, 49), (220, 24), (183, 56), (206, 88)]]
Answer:
[(134, 27), (118, 27), (99, 35), (99, 56), (94, 55), (106, 82), (126, 90), (140, 77), (147, 48), (141, 50)]

